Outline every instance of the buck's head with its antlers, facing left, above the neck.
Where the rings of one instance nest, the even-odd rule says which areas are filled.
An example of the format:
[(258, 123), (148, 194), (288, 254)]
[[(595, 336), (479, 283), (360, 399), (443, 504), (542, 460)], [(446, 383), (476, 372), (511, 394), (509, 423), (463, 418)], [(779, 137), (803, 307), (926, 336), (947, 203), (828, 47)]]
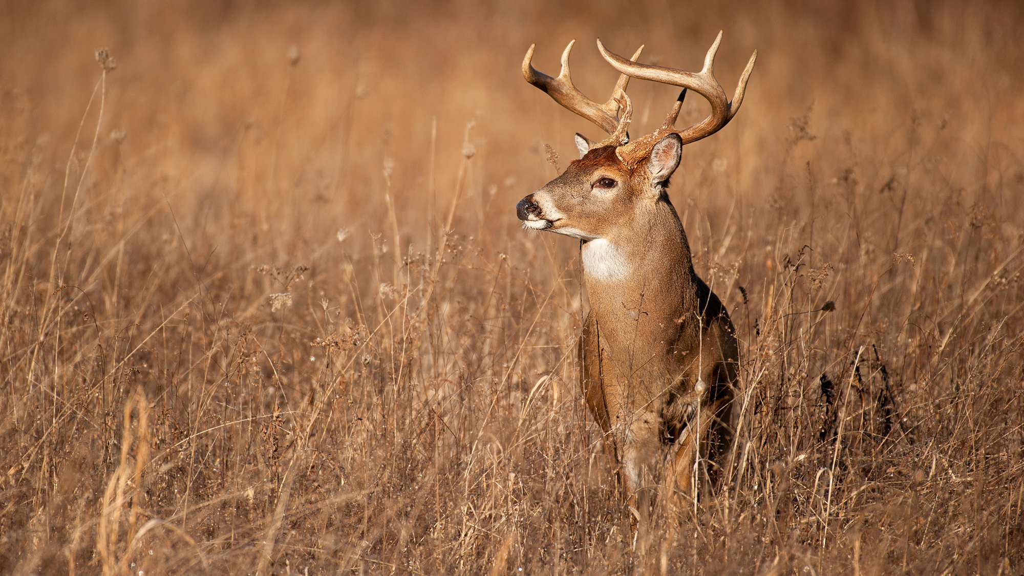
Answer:
[[(757, 51), (746, 64), (730, 101), (715, 79), (713, 71), (715, 54), (721, 41), (722, 33), (719, 32), (705, 56), (703, 69), (698, 73), (691, 73), (638, 64), (635, 60), (643, 46), (633, 54), (632, 59), (626, 59), (608, 51), (598, 40), (597, 47), (601, 55), (622, 73), (612, 97), (602, 105), (588, 99), (572, 84), (569, 52), (575, 41), (569, 42), (565, 47), (561, 72), (557, 78), (534, 69), (530, 61), (535, 46), (531, 45), (522, 63), (526, 81), (547, 92), (566, 109), (594, 122), (608, 132), (609, 136), (595, 143), (583, 134), (575, 135), (580, 160), (570, 163), (565, 172), (544, 189), (519, 202), (516, 213), (523, 220), (523, 227), (590, 241), (604, 238), (609, 231), (618, 228), (616, 222), (624, 218), (628, 221), (633, 212), (642, 209), (638, 202), (644, 199), (657, 201), (668, 186), (669, 177), (679, 166), (682, 146), (722, 129), (735, 116), (743, 101), (746, 81), (754, 70)], [(636, 140), (631, 140), (628, 132), (633, 107), (626, 88), (631, 77), (683, 88), (665, 123), (654, 132)], [(707, 98), (711, 104), (712, 114), (697, 124), (676, 130), (676, 119), (687, 90), (693, 90)]]

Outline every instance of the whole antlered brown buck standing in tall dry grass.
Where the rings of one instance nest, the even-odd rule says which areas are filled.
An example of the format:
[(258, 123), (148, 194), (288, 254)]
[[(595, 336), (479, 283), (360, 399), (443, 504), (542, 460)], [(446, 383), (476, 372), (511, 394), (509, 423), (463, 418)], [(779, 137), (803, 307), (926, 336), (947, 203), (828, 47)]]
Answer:
[[(599, 142), (575, 134), (580, 158), (516, 205), (522, 227), (581, 243), (590, 311), (578, 344), (580, 384), (604, 433), (618, 486), (641, 521), (664, 486), (673, 500), (694, 502), (702, 479), (714, 482), (730, 452), (733, 397), (739, 370), (735, 328), (722, 300), (693, 268), (686, 232), (669, 199), (669, 178), (682, 147), (710, 136), (735, 116), (757, 50), (730, 101), (713, 72), (719, 32), (698, 73), (639, 64), (608, 51), (621, 73), (611, 97), (590, 100), (572, 84), (569, 42), (556, 78), (532, 67), (523, 77), (556, 102), (609, 136)], [(631, 139), (631, 78), (683, 88), (659, 128)], [(675, 128), (687, 90), (711, 104), (711, 115)], [(662, 484), (664, 483), (664, 484)], [(639, 509), (639, 510), (638, 510)]]

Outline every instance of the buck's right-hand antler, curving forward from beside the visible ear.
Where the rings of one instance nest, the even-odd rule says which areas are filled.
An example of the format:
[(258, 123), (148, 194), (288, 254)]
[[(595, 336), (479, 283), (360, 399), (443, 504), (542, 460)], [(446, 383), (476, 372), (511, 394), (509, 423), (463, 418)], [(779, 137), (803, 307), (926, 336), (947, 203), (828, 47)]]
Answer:
[[(604, 56), (604, 59), (608, 60), (608, 64), (614, 67), (618, 72), (622, 72), (624, 75), (639, 78), (641, 80), (652, 80), (664, 84), (672, 84), (673, 86), (681, 86), (683, 88), (682, 93), (679, 94), (679, 98), (676, 100), (676, 105), (672, 108), (669, 116), (665, 119), (665, 124), (663, 124), (662, 127), (653, 133), (634, 140), (627, 147), (624, 147), (623, 150), (620, 151), (621, 158), (641, 158), (645, 156), (645, 152), (649, 152), (650, 148), (653, 147), (654, 143), (673, 132), (682, 136), (684, 145), (699, 140), (700, 138), (710, 136), (711, 134), (719, 131), (723, 126), (728, 124), (730, 120), (732, 120), (732, 117), (735, 116), (736, 112), (739, 110), (739, 105), (743, 102), (743, 92), (746, 90), (746, 81), (750, 79), (751, 72), (754, 70), (754, 61), (758, 57), (758, 51), (754, 50), (754, 54), (751, 55), (750, 61), (746, 63), (746, 68), (743, 69), (743, 74), (739, 77), (739, 84), (736, 86), (736, 92), (732, 97), (732, 101), (729, 101), (726, 98), (725, 90), (722, 89), (722, 85), (715, 79), (713, 71), (715, 67), (715, 54), (718, 52), (718, 45), (721, 42), (722, 33), (719, 32), (718, 38), (715, 39), (715, 43), (712, 44), (711, 49), (708, 50), (708, 55), (705, 56), (703, 69), (694, 74), (684, 70), (663, 68), (659, 66), (648, 66), (630, 61), (617, 54), (609, 52), (605, 49), (604, 45), (601, 44), (600, 40), (597, 41), (597, 49), (601, 51), (601, 55)], [(682, 109), (683, 97), (686, 95), (686, 90), (693, 90), (703, 96), (711, 104), (711, 116), (688, 128), (676, 130), (676, 118), (679, 117), (679, 111)]]

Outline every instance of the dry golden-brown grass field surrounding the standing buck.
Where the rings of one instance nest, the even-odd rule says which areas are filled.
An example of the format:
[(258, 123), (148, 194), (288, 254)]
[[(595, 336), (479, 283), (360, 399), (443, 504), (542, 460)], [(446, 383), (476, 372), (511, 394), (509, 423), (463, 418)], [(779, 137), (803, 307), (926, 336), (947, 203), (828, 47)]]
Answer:
[[(4, 3), (0, 573), (1024, 573), (1024, 8), (629, 4)], [(670, 192), (733, 465), (634, 543), (514, 213), (601, 133), (519, 66), (719, 30)]]

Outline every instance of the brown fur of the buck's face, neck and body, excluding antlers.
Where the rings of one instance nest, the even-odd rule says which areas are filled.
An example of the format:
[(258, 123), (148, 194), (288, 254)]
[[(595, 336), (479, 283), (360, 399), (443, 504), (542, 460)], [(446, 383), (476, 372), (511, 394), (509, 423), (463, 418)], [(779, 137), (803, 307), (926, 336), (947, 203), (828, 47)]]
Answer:
[[(586, 270), (585, 252), (591, 310), (579, 360), (587, 406), (621, 464), (624, 494), (641, 503), (663, 483), (692, 496), (698, 454), (719, 460), (700, 474), (714, 476), (721, 465), (739, 360), (729, 315), (696, 276), (663, 186), (678, 162), (672, 143), (632, 167), (614, 147), (591, 150), (526, 199), (542, 217), (561, 216), (552, 232), (583, 231), (614, 246), (630, 266), (623, 277), (601, 278)], [(595, 186), (602, 177), (616, 188)]]

